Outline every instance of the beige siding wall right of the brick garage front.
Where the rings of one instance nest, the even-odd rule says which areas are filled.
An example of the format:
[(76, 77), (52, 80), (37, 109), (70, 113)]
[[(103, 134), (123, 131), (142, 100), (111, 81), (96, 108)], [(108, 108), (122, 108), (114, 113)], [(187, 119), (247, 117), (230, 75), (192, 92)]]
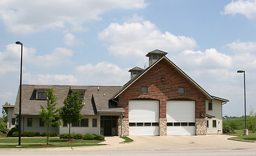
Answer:
[[(208, 110), (208, 101), (206, 101), (206, 114), (215, 116), (208, 118), (207, 134), (222, 134), (222, 103), (220, 100), (212, 99), (212, 110)], [(213, 121), (216, 120), (216, 127), (213, 127)]]

